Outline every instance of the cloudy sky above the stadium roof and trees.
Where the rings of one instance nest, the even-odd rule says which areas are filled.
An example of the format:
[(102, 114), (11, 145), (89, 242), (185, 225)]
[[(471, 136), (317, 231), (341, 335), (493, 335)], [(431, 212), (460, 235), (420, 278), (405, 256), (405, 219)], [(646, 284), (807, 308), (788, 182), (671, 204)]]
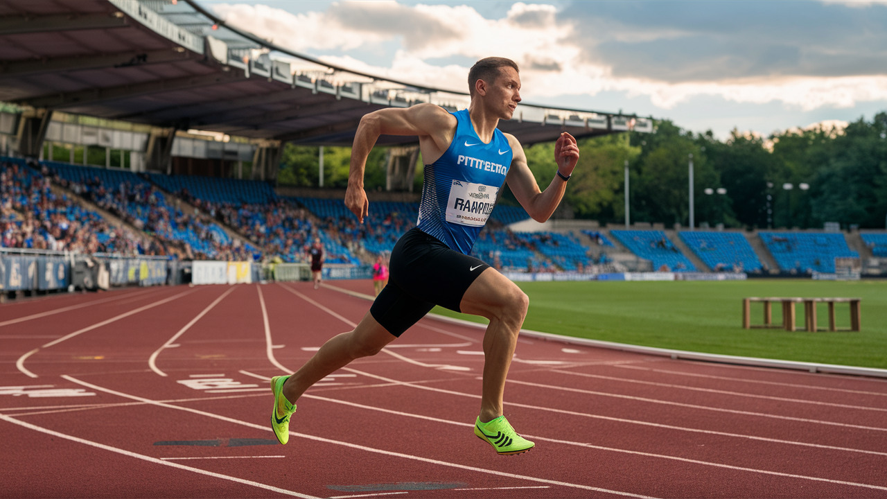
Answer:
[(525, 102), (670, 118), (725, 138), (887, 110), (885, 2), (200, 2), (341, 66), (467, 90), (496, 55)]

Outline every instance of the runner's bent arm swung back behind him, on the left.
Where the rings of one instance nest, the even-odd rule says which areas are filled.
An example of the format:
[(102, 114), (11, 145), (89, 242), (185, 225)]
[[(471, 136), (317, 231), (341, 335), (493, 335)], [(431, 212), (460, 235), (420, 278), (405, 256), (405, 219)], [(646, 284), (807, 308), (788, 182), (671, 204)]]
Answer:
[(370, 206), (364, 191), (366, 158), (379, 136), (416, 135), (419, 137), (423, 155), (439, 156), (450, 147), (456, 132), (456, 123), (453, 115), (434, 104), (420, 104), (402, 109), (380, 109), (364, 115), (357, 126), (354, 146), (351, 148), (351, 169), (348, 176), (348, 190), (345, 192), (345, 205), (363, 223)]

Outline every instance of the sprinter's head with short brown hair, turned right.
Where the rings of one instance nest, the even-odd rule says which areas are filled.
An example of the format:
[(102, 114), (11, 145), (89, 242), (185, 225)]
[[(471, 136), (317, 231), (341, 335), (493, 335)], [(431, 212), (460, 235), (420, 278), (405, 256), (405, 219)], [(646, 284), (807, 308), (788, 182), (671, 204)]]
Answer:
[(468, 71), (471, 99), (481, 99), (483, 107), (500, 119), (511, 119), (521, 101), (521, 76), (514, 60), (488, 57), (475, 62)]

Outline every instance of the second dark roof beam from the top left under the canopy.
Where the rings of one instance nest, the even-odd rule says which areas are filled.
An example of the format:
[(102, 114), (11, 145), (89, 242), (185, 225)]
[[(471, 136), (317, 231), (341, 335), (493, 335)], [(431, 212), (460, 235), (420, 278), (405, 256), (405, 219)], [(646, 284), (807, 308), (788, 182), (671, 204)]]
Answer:
[(188, 59), (188, 51), (126, 51), (87, 57), (59, 57), (51, 59), (24, 59), (0, 62), (0, 79), (12, 76), (37, 75), (59, 71), (81, 71), (103, 67), (129, 67), (159, 64)]

